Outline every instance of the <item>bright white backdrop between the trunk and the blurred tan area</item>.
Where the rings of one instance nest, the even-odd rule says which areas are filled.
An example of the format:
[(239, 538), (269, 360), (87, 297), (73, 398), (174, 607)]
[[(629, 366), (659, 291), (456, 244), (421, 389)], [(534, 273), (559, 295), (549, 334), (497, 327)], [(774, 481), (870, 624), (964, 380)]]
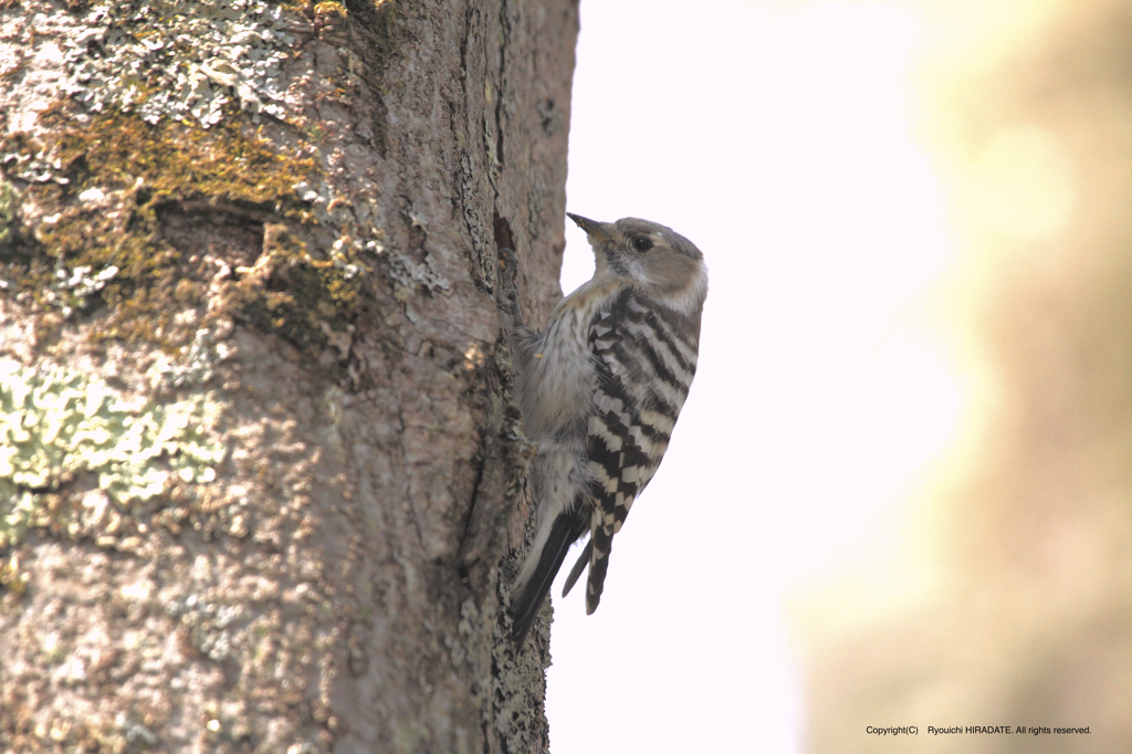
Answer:
[[(567, 207), (670, 225), (711, 290), (601, 607), (557, 597), (568, 567), (556, 582), (551, 751), (801, 752), (783, 599), (830, 551), (883, 552), (886, 513), (963, 414), (933, 325), (952, 242), (908, 114), (923, 24), (849, 1), (581, 12)], [(593, 258), (566, 238), (572, 291)]]

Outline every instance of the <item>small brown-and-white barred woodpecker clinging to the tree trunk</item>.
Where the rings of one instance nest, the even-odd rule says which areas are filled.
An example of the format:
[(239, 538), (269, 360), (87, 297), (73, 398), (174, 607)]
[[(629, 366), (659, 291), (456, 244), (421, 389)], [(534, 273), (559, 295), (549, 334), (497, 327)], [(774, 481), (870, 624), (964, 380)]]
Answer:
[(585, 611), (601, 600), (614, 535), (660, 465), (700, 349), (707, 267), (670, 228), (568, 214), (593, 247), (593, 277), (564, 298), (542, 332), (511, 299), (515, 400), (538, 455), (535, 534), (511, 591), (521, 646), (569, 547), (589, 541), (565, 597), (589, 566)]

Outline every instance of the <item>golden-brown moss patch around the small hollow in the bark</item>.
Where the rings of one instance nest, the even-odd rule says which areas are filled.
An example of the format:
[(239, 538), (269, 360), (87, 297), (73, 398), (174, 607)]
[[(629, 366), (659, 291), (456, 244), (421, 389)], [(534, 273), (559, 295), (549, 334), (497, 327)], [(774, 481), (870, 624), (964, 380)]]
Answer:
[[(53, 118), (45, 120), (60, 127), (54, 143), (16, 137), (0, 148), (17, 166), (52, 166), (26, 189), (42, 214), (9, 255), (20, 267), (17, 293), (54, 314), (41, 335), (103, 305), (94, 339), (171, 350), (187, 348), (200, 324), (178, 324), (188, 307), (299, 346), (348, 332), (366, 268), (357, 245), (334, 242), (333, 230), (312, 240), (320, 220), (300, 196), (317, 183), (312, 157), (282, 153), (234, 122), (206, 130), (118, 113), (75, 128)], [(187, 229), (180, 235), (173, 215)], [(230, 226), (228, 238), (196, 243), (195, 230), (217, 222)]]

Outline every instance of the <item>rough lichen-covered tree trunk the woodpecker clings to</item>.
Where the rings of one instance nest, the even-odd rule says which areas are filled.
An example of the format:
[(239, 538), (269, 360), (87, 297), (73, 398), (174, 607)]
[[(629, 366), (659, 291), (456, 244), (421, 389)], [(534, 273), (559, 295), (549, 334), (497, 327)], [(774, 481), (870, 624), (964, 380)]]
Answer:
[(0, 6), (3, 751), (535, 752), (574, 0)]

